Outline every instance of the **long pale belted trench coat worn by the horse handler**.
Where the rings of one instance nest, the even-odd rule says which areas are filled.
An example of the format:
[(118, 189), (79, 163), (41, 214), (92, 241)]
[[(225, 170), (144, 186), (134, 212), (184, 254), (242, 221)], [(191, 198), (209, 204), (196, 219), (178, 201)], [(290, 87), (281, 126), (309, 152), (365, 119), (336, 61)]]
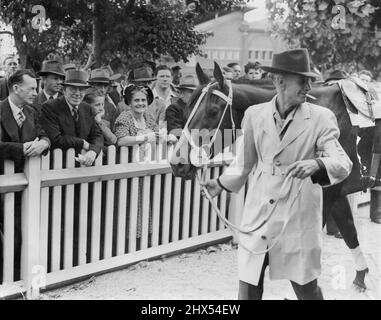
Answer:
[(240, 233), (239, 240), (245, 248), (238, 248), (239, 279), (258, 285), (265, 254), (254, 255), (249, 250), (261, 252), (276, 243), (269, 251), (270, 279), (288, 279), (304, 285), (321, 273), (322, 187), (311, 178), (286, 178), (284, 173), (296, 161), (320, 158), (329, 185), (333, 185), (350, 174), (352, 162), (338, 142), (335, 115), (318, 105), (301, 104), (280, 140), (273, 117), (275, 98), (247, 109), (236, 157), (220, 182), (228, 190), (238, 192), (253, 173), (242, 229), (258, 226), (274, 209), (270, 221), (261, 229)]

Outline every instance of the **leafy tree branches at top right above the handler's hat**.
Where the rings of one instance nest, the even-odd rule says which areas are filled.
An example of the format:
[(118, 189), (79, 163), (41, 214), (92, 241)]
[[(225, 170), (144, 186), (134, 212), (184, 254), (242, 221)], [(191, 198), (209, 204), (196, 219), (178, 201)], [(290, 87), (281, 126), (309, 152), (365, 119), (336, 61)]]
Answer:
[[(324, 69), (353, 64), (381, 71), (379, 0), (267, 0), (272, 31), (309, 49)], [(295, 41), (295, 39), (297, 41)]]

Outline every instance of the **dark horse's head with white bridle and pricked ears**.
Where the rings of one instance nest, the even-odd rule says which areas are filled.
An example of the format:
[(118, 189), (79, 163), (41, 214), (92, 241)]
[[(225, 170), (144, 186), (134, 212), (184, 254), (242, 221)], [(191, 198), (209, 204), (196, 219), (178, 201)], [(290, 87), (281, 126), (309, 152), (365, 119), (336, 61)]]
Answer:
[(210, 81), (199, 64), (196, 74), (200, 86), (187, 105), (190, 116), (170, 159), (173, 174), (184, 179), (195, 176), (197, 166), (192, 161), (194, 156), (206, 155), (210, 158), (212, 145), (214, 152), (217, 152), (216, 149), (220, 151), (221, 132), (231, 129), (234, 123), (233, 87), (230, 81), (225, 80), (220, 66), (214, 64), (215, 81)]

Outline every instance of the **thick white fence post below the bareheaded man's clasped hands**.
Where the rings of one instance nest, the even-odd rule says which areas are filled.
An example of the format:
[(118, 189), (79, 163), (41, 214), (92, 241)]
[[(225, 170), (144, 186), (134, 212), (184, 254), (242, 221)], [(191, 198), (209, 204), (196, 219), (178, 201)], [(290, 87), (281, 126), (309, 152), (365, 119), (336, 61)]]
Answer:
[(41, 158), (26, 160), (24, 173), (28, 186), (22, 195), (21, 276), (27, 299), (37, 299), (46, 270), (39, 266)]

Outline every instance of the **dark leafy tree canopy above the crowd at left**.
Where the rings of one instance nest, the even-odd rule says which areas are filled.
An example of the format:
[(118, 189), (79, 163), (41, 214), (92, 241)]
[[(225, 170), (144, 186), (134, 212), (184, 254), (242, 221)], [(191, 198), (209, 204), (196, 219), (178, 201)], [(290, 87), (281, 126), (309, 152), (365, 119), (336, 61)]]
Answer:
[[(49, 53), (71, 59), (93, 53), (96, 65), (119, 57), (131, 62), (170, 55), (175, 61), (198, 54), (208, 34), (194, 30), (211, 10), (230, 9), (245, 0), (0, 0), (0, 18), (11, 23), (23, 66)], [(33, 29), (32, 8), (42, 5), (51, 28)]]

